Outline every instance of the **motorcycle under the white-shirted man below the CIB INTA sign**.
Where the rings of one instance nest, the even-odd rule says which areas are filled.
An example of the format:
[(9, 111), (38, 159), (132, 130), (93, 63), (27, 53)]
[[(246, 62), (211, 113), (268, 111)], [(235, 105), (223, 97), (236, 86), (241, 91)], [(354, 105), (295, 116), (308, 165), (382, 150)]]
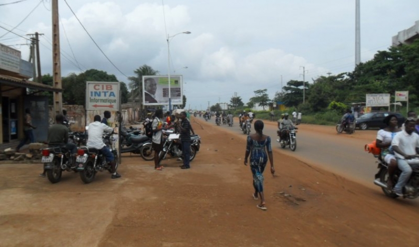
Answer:
[[(103, 142), (111, 150), (115, 158), (115, 169), (118, 168), (119, 158), (115, 147), (113, 134), (105, 133)], [(83, 183), (88, 184), (93, 181), (97, 172), (109, 171), (112, 173), (112, 166), (106, 161), (105, 156), (95, 148), (81, 146), (77, 150), (76, 169), (80, 172), (80, 179)]]

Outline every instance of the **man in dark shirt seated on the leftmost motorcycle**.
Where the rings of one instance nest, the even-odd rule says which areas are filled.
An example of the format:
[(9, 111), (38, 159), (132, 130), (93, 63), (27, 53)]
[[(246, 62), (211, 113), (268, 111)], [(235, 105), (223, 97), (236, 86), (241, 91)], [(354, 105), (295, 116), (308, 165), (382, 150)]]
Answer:
[[(48, 128), (48, 147), (64, 147), (71, 152), (71, 166), (76, 165), (77, 145), (68, 143), (68, 128), (64, 125), (64, 116), (57, 114), (55, 116), (55, 124)], [(46, 177), (44, 171), (39, 174), (41, 177)]]

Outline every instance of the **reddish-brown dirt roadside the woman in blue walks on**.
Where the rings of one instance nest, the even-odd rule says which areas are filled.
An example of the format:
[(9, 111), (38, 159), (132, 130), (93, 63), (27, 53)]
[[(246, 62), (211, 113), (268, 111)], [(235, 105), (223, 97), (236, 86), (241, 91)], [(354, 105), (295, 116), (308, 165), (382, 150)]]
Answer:
[(243, 165), (246, 136), (196, 121), (202, 145), (189, 170), (171, 159), (155, 171), (151, 162), (125, 155), (121, 179), (99, 173), (84, 185), (78, 174), (65, 173), (52, 185), (37, 177), (41, 165), (0, 165), (0, 246), (418, 246), (414, 201), (386, 198), (378, 187), (277, 147), (278, 177), (265, 173), (268, 210), (257, 209)]

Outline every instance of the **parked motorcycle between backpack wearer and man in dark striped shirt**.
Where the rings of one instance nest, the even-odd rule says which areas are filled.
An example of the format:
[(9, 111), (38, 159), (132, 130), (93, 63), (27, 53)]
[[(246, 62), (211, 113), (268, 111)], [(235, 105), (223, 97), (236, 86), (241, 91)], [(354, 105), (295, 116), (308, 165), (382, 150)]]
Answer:
[[(173, 133), (172, 130), (163, 131), (163, 133), (168, 134), (166, 141), (163, 144), (163, 149), (159, 153), (159, 164), (162, 160), (166, 159), (169, 154), (172, 158), (180, 158), (182, 155), (182, 142), (179, 139), (179, 134)], [(199, 135), (191, 135), (191, 156), (189, 160), (194, 160), (197, 152), (200, 150), (201, 146), (201, 137)]]

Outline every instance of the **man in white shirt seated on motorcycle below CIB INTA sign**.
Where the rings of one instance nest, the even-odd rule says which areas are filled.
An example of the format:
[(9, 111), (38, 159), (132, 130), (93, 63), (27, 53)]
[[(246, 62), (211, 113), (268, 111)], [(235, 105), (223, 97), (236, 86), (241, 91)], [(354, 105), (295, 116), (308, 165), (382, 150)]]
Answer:
[(105, 156), (105, 159), (112, 167), (112, 179), (120, 178), (121, 175), (119, 175), (116, 172), (116, 162), (115, 157), (112, 154), (111, 150), (103, 143), (103, 132), (109, 132), (111, 133), (113, 129), (109, 127), (108, 125), (100, 122), (100, 116), (95, 115), (93, 118), (93, 123), (89, 124), (89, 129), (87, 131), (88, 138), (86, 146), (88, 148), (95, 148), (97, 150), (100, 150), (100, 152)]

